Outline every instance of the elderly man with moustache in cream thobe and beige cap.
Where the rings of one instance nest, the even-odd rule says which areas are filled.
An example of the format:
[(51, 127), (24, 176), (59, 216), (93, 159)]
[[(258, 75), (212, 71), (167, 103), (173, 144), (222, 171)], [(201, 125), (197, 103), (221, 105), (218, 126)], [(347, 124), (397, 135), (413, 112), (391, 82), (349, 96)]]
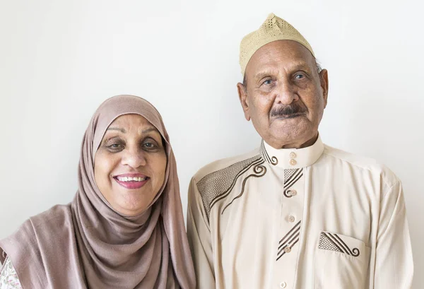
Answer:
[(243, 38), (240, 65), (240, 102), (262, 141), (192, 179), (197, 288), (411, 288), (401, 182), (322, 143), (328, 73), (309, 43), (271, 14)]

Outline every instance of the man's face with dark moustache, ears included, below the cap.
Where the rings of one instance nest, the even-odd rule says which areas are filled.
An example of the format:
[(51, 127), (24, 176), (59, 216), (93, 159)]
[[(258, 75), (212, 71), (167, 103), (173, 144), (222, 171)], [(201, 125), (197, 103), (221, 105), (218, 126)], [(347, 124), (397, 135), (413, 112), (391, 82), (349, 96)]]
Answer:
[(278, 40), (257, 50), (237, 84), (247, 120), (274, 148), (309, 146), (326, 107), (328, 76), (317, 71), (311, 52), (298, 42)]

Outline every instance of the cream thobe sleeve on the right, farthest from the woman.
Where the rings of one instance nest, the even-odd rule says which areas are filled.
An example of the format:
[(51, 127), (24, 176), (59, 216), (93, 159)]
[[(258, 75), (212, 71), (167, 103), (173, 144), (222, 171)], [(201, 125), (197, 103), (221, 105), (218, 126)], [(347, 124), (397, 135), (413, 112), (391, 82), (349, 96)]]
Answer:
[(411, 240), (399, 181), (381, 201), (374, 273), (374, 289), (410, 289), (412, 286)]

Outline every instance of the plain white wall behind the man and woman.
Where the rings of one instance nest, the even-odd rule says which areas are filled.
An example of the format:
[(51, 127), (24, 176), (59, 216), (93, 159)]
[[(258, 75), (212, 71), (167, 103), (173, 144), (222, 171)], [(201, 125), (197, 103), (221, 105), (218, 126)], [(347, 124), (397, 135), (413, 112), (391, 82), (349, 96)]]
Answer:
[(423, 8), (383, 0), (1, 0), (0, 237), (71, 201), (90, 117), (124, 93), (163, 115), (185, 211), (196, 170), (259, 145), (237, 98), (238, 48), (274, 12), (329, 69), (324, 142), (376, 158), (404, 182), (414, 288), (423, 288)]

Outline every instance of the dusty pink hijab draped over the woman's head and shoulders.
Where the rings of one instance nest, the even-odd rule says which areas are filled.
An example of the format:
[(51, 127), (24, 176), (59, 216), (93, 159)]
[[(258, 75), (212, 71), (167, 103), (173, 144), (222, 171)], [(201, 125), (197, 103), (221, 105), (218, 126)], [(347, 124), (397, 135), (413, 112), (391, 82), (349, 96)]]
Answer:
[[(165, 183), (148, 209), (135, 217), (114, 211), (94, 178), (95, 152), (107, 127), (123, 114), (140, 114), (151, 122), (165, 140), (167, 153)], [(25, 221), (0, 241), (0, 247), (23, 289), (194, 289), (177, 166), (155, 107), (132, 95), (103, 102), (83, 138), (78, 191), (71, 204)]]

